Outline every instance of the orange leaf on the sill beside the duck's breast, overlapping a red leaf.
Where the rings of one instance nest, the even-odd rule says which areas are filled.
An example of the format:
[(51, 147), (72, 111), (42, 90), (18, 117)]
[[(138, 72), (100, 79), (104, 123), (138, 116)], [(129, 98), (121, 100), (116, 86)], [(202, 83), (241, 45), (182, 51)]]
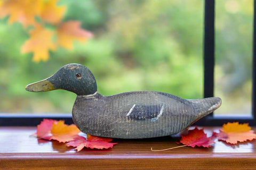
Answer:
[(58, 123), (54, 123), (52, 125), (52, 136), (50, 139), (65, 143), (77, 137), (79, 132), (80, 130), (76, 127), (76, 125), (67, 125), (64, 124), (64, 121), (59, 121)]

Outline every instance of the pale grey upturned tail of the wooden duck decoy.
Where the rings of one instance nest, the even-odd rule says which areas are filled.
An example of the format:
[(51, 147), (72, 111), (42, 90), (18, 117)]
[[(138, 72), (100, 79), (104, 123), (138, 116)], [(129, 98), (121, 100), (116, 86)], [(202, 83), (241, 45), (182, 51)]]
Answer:
[(202, 118), (219, 108), (221, 99), (219, 97), (210, 97), (204, 99), (189, 100), (198, 113), (198, 118)]

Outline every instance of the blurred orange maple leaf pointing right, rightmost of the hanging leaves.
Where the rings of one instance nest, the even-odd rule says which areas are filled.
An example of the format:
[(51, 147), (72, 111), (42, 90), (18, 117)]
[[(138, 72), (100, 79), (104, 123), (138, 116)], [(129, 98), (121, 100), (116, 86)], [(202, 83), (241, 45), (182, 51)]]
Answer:
[(79, 21), (63, 22), (57, 29), (57, 44), (61, 47), (72, 49), (73, 40), (84, 42), (87, 38), (92, 38), (91, 32), (80, 28)]

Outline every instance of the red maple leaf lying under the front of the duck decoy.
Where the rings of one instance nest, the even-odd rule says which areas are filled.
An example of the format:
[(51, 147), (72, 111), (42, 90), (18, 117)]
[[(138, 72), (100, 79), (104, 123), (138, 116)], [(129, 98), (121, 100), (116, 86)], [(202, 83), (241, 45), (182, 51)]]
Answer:
[(84, 137), (76, 137), (73, 141), (67, 143), (67, 146), (76, 147), (77, 151), (82, 150), (84, 147), (91, 149), (108, 149), (113, 148), (117, 143), (110, 143), (111, 138), (95, 137), (87, 134), (87, 140)]

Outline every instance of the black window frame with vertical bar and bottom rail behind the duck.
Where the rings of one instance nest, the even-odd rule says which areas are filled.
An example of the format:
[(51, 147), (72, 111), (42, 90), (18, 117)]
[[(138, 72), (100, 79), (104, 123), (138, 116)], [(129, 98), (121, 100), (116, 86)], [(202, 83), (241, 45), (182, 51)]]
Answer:
[[(253, 73), (252, 73), (252, 114), (245, 117), (218, 117), (213, 113), (196, 122), (201, 126), (221, 126), (227, 122), (249, 123), (256, 125), (256, 0), (253, 2)], [(214, 96), (214, 58), (215, 58), (215, 0), (205, 0), (204, 4), (204, 97)], [(0, 114), (0, 126), (36, 126), (44, 118), (65, 120), (73, 123), (71, 115), (28, 115), (28, 114)]]

